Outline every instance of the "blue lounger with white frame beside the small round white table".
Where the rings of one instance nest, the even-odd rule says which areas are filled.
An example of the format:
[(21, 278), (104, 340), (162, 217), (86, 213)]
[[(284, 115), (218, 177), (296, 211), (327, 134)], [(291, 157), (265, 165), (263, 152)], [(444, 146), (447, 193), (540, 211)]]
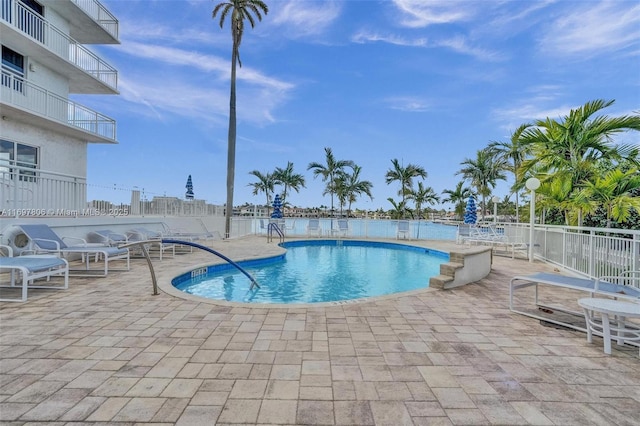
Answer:
[[(553, 313), (559, 311), (561, 313), (568, 313), (573, 315), (582, 316), (582, 312), (573, 311), (565, 306), (557, 304), (542, 304), (540, 303), (540, 287), (552, 287), (562, 288), (567, 290), (575, 290), (583, 293), (589, 293), (593, 296), (604, 296), (615, 299), (625, 299), (634, 302), (640, 302), (640, 278), (636, 276), (637, 272), (628, 271), (618, 276), (600, 277), (597, 279), (590, 278), (578, 278), (569, 277), (560, 274), (539, 272), (532, 275), (515, 276), (511, 279), (509, 285), (509, 309), (512, 312), (536, 318), (541, 321), (561, 325), (564, 327), (573, 328), (575, 330), (587, 331), (586, 325), (583, 323), (575, 324), (564, 319), (553, 318), (551, 316), (543, 316), (538, 313), (542, 312)], [(640, 275), (640, 274), (638, 274)], [(516, 307), (514, 298), (516, 292), (523, 288), (534, 287), (534, 309), (535, 310), (522, 310), (522, 308)], [(576, 298), (577, 299), (577, 298)]]

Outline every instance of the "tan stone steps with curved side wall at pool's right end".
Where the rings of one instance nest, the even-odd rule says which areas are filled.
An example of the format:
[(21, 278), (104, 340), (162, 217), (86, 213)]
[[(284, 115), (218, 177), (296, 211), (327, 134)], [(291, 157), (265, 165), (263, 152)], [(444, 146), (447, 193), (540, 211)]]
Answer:
[(440, 275), (429, 279), (429, 287), (448, 290), (479, 281), (489, 275), (493, 252), (491, 247), (470, 247), (449, 253), (449, 262), (440, 265)]

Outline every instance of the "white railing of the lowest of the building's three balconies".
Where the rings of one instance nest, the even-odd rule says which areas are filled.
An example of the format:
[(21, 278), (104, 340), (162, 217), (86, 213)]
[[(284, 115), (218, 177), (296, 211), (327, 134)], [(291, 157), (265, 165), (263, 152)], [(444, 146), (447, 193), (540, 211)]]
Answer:
[(17, 108), (116, 140), (116, 121), (67, 98), (51, 93), (12, 73), (2, 71), (0, 100)]

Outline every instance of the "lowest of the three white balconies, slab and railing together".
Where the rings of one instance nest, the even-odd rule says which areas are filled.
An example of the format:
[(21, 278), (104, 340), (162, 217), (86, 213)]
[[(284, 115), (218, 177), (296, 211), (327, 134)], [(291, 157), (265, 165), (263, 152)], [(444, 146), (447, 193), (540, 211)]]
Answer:
[(88, 140), (117, 143), (116, 122), (67, 98), (2, 71), (2, 115)]

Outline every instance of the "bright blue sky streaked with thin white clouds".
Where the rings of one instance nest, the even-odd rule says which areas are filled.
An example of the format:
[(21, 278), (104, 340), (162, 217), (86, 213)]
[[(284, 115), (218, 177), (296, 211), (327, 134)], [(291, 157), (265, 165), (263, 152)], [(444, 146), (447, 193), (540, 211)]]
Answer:
[[(119, 70), (120, 95), (74, 99), (116, 119), (119, 144), (89, 146), (89, 199), (128, 202), (133, 186), (184, 197), (192, 175), (196, 198), (224, 204), (231, 35), (211, 17), (219, 1), (102, 3), (121, 44), (92, 49)], [(328, 205), (307, 166), (330, 147), (373, 183), (373, 201), (354, 207), (389, 209), (393, 158), (424, 167), (441, 193), (465, 158), (522, 123), (594, 99), (615, 99), (611, 116), (640, 110), (637, 1), (267, 4), (240, 48), (235, 205), (264, 202), (250, 171), (288, 161), (307, 183), (289, 202)]]

